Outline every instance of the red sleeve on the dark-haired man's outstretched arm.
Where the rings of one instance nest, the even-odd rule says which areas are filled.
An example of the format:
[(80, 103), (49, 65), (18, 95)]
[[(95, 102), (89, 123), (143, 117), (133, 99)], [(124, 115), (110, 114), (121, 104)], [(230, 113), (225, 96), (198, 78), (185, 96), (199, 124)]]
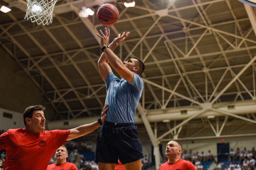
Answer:
[(62, 146), (64, 143), (66, 143), (70, 129), (68, 129), (68, 130), (52, 130), (51, 132), (54, 137), (55, 149), (58, 149), (58, 148), (60, 148), (60, 146)]

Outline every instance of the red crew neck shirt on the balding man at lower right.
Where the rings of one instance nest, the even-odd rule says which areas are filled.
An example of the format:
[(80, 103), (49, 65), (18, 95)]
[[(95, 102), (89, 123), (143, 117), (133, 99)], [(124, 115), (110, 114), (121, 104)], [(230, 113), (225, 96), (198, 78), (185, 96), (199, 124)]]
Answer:
[(168, 161), (159, 166), (158, 170), (196, 170), (196, 167), (189, 161), (179, 159), (178, 161), (169, 164)]

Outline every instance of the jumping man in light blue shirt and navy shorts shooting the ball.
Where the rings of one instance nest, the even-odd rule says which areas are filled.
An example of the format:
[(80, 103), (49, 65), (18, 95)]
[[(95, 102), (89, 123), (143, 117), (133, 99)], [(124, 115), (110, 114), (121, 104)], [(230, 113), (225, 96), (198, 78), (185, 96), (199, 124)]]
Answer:
[[(137, 127), (134, 126), (135, 112), (140, 101), (144, 63), (136, 57), (122, 62), (113, 52), (117, 43), (130, 33), (118, 35), (107, 46), (110, 31), (105, 28), (105, 35), (100, 31), (102, 55), (98, 61), (100, 75), (106, 83), (108, 103), (107, 118), (100, 128), (96, 143), (95, 162), (99, 170), (114, 170), (118, 159), (126, 170), (141, 170), (142, 146), (138, 139)], [(116, 77), (110, 66), (123, 77)]]

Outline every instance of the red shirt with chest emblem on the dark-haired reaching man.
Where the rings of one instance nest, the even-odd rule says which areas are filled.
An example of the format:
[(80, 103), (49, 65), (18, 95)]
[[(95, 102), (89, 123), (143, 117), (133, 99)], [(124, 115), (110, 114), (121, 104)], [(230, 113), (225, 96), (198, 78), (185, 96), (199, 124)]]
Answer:
[(6, 150), (4, 170), (45, 170), (69, 132), (70, 129), (33, 134), (27, 128), (9, 129), (0, 135), (0, 150)]

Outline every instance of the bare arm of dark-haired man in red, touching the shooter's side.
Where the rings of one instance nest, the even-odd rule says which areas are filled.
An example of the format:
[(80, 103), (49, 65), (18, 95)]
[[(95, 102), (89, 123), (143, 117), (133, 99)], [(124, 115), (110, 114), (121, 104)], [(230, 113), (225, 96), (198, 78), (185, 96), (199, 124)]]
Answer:
[[(108, 110), (108, 104), (105, 104), (105, 106), (101, 112), (101, 123), (103, 123), (105, 118), (107, 117), (107, 114), (105, 114), (107, 110)], [(91, 124), (86, 124), (86, 125), (82, 125), (77, 128), (74, 128), (74, 129), (70, 129), (70, 133), (68, 135), (67, 141), (70, 141), (72, 139), (76, 139), (78, 137), (81, 137), (88, 133), (91, 133), (92, 131), (94, 131), (95, 129), (97, 129), (99, 127), (100, 127), (100, 124), (98, 121), (96, 121)]]

